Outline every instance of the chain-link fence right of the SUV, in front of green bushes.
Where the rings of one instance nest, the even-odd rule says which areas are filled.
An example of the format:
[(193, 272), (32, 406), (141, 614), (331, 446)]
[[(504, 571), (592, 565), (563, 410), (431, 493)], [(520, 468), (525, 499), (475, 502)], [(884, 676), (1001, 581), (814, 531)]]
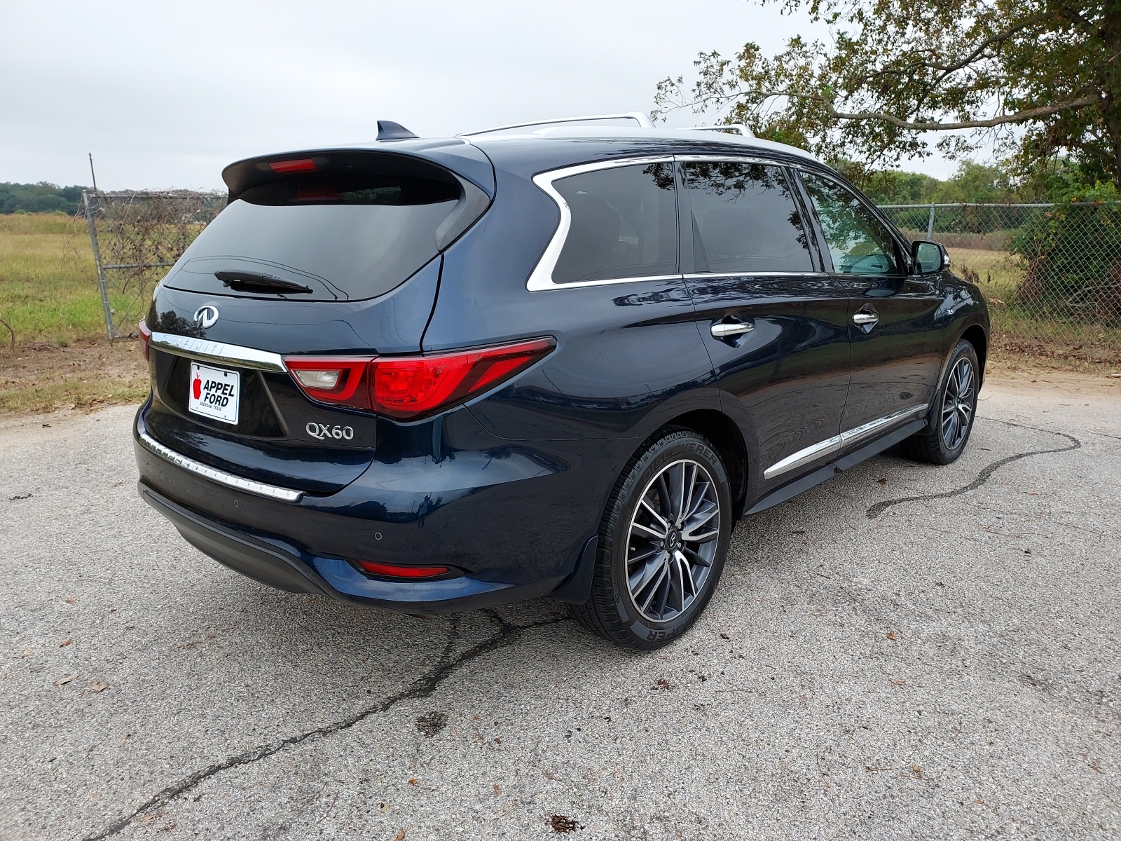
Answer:
[(1121, 362), (1121, 205), (923, 204), (882, 210), (946, 247), (989, 301), (998, 350)]

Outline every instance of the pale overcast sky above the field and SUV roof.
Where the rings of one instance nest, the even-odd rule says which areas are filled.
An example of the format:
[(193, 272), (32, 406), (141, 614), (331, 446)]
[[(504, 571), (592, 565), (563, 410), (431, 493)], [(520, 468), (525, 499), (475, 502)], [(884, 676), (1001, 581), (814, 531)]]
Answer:
[(221, 187), (232, 160), (378, 119), (446, 136), (649, 111), (701, 50), (813, 34), (754, 0), (0, 0), (0, 182), (89, 184), (92, 151), (109, 190)]

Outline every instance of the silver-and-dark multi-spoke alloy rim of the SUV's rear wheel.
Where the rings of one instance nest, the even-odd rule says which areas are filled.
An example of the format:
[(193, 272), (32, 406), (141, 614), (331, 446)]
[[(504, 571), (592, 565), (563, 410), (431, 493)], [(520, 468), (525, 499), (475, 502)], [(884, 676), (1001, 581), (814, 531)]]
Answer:
[(668, 621), (704, 591), (720, 536), (716, 483), (683, 459), (646, 486), (627, 539), (627, 586), (643, 618)]

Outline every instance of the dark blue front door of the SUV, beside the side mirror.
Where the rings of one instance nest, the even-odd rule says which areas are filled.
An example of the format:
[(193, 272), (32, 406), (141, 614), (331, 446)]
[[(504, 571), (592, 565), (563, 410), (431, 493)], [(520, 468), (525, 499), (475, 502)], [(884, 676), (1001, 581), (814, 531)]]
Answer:
[(900, 416), (918, 417), (934, 399), (943, 355), (935, 320), (941, 277), (910, 275), (904, 243), (854, 191), (819, 173), (800, 175), (833, 280), (850, 302), (852, 386), (841, 427), (867, 427), (871, 435)]

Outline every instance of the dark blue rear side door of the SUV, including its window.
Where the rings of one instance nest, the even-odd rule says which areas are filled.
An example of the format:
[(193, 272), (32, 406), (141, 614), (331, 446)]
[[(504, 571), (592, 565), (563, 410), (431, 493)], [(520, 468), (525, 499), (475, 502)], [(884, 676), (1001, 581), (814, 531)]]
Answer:
[[(725, 410), (758, 444), (756, 481), (780, 484), (836, 449), (849, 390), (847, 295), (823, 271), (782, 166), (685, 160), (686, 283)], [(688, 229), (686, 229), (688, 234)]]

